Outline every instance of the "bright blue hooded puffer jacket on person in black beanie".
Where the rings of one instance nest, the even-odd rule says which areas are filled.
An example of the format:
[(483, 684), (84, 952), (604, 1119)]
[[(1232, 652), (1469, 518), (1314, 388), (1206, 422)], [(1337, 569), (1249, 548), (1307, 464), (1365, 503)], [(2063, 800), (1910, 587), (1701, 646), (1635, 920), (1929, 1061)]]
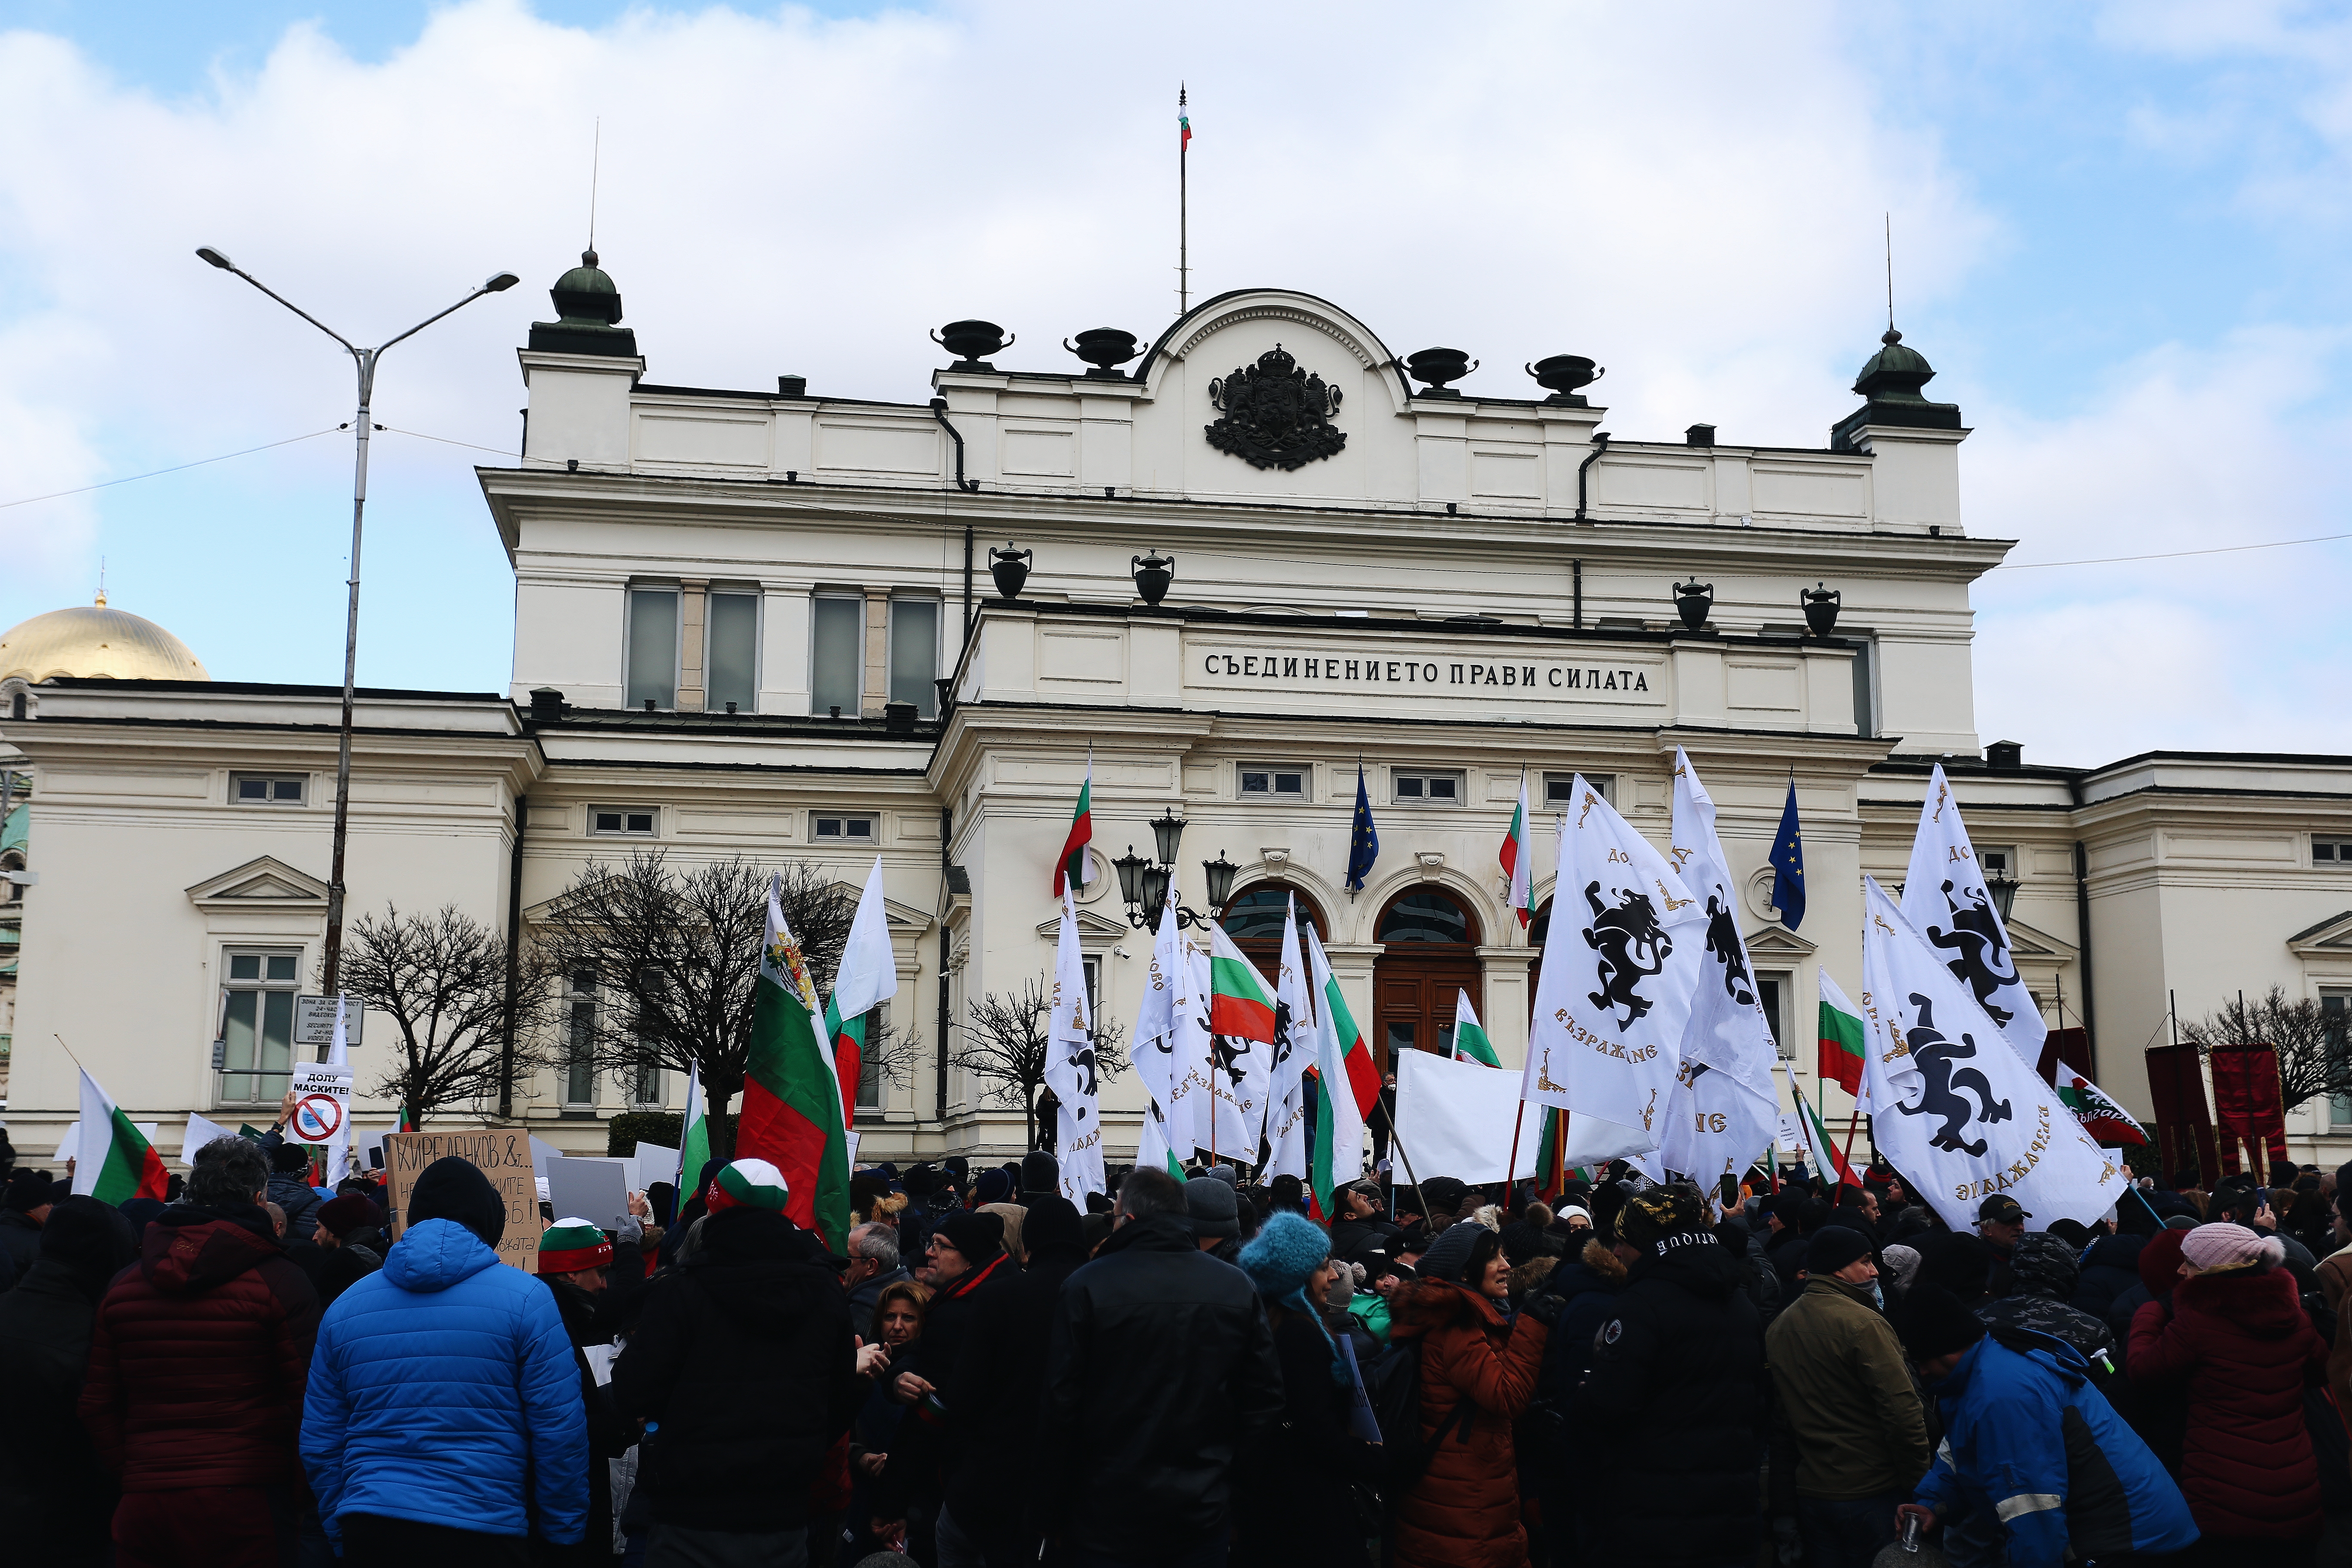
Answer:
[(336, 1542), (341, 1514), (576, 1542), (588, 1415), (555, 1295), (456, 1220), (412, 1225), (318, 1326), (301, 1458)]

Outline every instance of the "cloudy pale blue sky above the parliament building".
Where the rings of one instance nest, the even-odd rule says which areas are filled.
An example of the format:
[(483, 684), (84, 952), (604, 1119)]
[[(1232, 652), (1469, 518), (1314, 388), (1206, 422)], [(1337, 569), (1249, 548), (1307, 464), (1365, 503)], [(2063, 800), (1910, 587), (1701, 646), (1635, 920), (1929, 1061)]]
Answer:
[[(350, 369), (381, 341), (360, 679), (501, 689), (466, 442), (588, 228), (652, 376), (922, 397), (922, 327), (1044, 343), (1277, 282), (1465, 386), (1588, 353), (1621, 435), (1823, 444), (1896, 313), (1962, 404), (1978, 726), (2027, 757), (2352, 752), (2343, 5), (0, 0), (0, 625), (87, 602), (221, 679), (341, 663)], [(327, 433), (327, 435), (313, 435)], [(310, 437), (310, 440), (292, 440)], [(437, 437), (437, 440), (428, 440)], [(122, 475), (289, 442), (155, 480)]]

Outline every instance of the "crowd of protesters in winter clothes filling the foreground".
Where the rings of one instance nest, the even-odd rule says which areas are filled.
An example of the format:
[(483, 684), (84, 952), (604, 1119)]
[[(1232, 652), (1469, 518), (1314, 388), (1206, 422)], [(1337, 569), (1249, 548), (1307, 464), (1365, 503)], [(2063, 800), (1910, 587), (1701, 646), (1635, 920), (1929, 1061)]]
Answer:
[(1886, 1168), (1080, 1206), (1030, 1154), (861, 1171), (833, 1251), (760, 1159), (614, 1227), (442, 1159), (393, 1241), (221, 1138), (169, 1204), (7, 1173), (0, 1516), (122, 1568), (2338, 1568), (2338, 1175), (1952, 1229)]

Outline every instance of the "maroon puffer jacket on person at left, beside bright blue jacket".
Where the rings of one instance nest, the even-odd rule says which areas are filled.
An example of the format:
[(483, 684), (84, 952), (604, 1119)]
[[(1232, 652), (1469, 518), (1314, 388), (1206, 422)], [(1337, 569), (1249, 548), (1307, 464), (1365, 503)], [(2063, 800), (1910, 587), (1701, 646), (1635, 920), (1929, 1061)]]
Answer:
[(259, 1208), (172, 1206), (99, 1302), (82, 1425), (127, 1493), (299, 1481), (318, 1293)]

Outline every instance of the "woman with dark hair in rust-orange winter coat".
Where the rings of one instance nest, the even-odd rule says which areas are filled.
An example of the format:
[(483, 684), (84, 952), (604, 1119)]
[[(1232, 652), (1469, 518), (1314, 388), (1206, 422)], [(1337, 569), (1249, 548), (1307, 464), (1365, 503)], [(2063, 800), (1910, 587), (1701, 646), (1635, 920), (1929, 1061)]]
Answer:
[[(1519, 1460), (1510, 1432), (1536, 1392), (1550, 1324), (1503, 1316), (1510, 1258), (1475, 1220), (1446, 1229), (1392, 1302), (1388, 1342), (1421, 1340), (1430, 1467), (1397, 1502), (1397, 1568), (1519, 1568)], [(1557, 1295), (1531, 1307), (1557, 1312)]]

